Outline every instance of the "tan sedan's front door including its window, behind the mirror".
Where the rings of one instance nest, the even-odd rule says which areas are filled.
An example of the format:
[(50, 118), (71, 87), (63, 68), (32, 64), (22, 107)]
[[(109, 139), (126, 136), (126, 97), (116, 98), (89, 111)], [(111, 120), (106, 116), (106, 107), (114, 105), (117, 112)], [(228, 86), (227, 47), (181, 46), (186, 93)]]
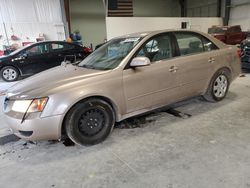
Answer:
[(150, 66), (127, 68), (123, 84), (127, 113), (149, 110), (178, 100), (176, 59), (170, 34), (157, 35), (142, 45), (135, 56), (148, 57)]

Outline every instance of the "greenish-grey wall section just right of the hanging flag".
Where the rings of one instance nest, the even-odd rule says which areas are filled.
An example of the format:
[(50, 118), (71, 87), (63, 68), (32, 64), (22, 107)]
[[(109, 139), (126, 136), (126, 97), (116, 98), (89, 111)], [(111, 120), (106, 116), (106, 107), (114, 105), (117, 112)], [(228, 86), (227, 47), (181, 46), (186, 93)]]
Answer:
[(133, 0), (134, 17), (178, 17), (178, 0)]

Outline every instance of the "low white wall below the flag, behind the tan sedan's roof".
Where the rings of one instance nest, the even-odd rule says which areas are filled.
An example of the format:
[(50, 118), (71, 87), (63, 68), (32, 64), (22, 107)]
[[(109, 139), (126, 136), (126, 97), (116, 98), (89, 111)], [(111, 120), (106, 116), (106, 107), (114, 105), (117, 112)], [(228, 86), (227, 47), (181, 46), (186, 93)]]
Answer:
[(143, 31), (178, 29), (182, 22), (187, 22), (189, 29), (207, 32), (211, 25), (222, 25), (222, 18), (107, 17), (107, 38)]

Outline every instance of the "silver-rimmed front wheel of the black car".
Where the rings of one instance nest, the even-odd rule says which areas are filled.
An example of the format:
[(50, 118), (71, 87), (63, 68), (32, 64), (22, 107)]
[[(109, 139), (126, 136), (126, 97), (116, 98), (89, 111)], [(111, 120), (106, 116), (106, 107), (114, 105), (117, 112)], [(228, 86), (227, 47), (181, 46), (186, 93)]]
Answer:
[(17, 81), (19, 76), (19, 70), (13, 66), (6, 66), (1, 69), (1, 78), (6, 82)]

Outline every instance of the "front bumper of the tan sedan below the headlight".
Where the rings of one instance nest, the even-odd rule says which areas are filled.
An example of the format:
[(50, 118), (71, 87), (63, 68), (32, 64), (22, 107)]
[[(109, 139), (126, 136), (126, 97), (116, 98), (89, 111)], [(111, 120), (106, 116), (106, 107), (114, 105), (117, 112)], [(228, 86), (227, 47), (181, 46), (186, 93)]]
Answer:
[(21, 119), (5, 114), (4, 120), (12, 132), (26, 140), (58, 140), (61, 137), (62, 115), (35, 119), (27, 119), (21, 123)]

